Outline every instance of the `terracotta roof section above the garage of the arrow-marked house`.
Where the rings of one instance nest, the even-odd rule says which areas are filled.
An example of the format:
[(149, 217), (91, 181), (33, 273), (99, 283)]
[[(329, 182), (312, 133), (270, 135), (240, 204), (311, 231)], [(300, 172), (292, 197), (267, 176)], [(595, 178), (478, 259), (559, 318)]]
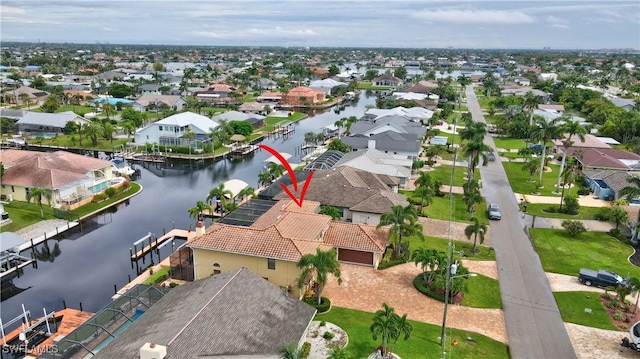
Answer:
[(383, 252), (389, 243), (389, 229), (360, 223), (331, 222), (324, 243), (338, 248)]

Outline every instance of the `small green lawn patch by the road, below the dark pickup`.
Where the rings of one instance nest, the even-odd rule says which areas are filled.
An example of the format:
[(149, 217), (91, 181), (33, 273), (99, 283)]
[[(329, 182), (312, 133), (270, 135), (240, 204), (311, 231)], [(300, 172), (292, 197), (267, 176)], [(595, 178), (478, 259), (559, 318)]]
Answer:
[[(558, 309), (562, 315), (562, 321), (585, 325), (587, 327), (606, 330), (618, 330), (607, 314), (599, 293), (594, 292), (555, 292)], [(585, 309), (591, 309), (591, 313), (585, 313)]]

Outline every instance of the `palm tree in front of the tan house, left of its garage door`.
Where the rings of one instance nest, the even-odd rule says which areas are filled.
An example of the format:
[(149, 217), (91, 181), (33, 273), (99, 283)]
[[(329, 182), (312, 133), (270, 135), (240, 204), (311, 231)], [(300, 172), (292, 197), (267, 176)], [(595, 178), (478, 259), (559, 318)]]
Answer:
[(322, 290), (329, 280), (329, 274), (333, 274), (338, 279), (338, 284), (342, 283), (340, 278), (340, 263), (338, 262), (338, 254), (334, 248), (323, 251), (320, 247), (316, 248), (316, 254), (305, 254), (298, 262), (298, 268), (302, 269), (298, 286), (303, 287), (309, 278), (315, 278), (316, 287), (316, 303), (320, 305), (322, 301)]

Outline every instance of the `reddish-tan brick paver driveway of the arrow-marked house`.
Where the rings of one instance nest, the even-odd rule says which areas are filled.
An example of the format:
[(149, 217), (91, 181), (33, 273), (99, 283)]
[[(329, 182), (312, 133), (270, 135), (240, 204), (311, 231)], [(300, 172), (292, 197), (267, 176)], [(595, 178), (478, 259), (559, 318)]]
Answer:
[[(471, 262), (473, 261), (466, 261), (464, 264), (472, 272), (488, 276), (496, 274), (495, 262), (480, 262), (478, 268), (473, 267)], [(421, 272), (415, 264), (405, 263), (384, 270), (341, 264), (340, 271), (342, 284), (338, 286), (331, 277), (322, 292), (323, 296), (331, 299), (333, 305), (374, 313), (385, 302), (394, 307), (397, 313), (406, 313), (411, 320), (442, 325), (444, 304), (423, 295), (413, 287), (413, 279)], [(447, 327), (469, 330), (507, 342), (504, 316), (500, 309), (450, 305), (447, 310)]]

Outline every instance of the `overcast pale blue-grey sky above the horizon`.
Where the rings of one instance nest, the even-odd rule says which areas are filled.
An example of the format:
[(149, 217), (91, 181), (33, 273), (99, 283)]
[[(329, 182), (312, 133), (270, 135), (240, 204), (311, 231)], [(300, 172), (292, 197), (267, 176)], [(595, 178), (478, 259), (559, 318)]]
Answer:
[(0, 40), (639, 49), (640, 1), (2, 0)]

